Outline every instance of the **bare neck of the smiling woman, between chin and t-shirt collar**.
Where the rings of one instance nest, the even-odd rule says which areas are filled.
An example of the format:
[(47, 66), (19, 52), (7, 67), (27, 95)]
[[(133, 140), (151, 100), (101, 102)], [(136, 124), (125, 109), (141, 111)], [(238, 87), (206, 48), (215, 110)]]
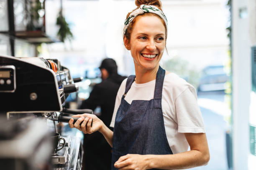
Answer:
[(146, 70), (146, 69), (141, 68), (141, 67), (135, 67), (135, 74), (136, 74), (135, 82), (137, 84), (142, 84), (142, 83), (146, 83), (146, 82), (150, 82), (152, 80), (155, 80), (158, 68), (159, 68), (159, 65), (156, 66), (152, 70)]

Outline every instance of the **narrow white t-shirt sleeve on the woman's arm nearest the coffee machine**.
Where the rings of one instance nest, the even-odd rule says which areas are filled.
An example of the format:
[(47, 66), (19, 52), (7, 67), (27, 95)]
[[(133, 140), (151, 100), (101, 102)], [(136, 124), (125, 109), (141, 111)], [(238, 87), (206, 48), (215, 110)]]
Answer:
[(121, 103), (121, 100), (122, 100), (122, 96), (125, 92), (125, 85), (126, 85), (126, 81), (127, 81), (127, 78), (125, 78), (125, 80), (123, 80), (123, 82), (121, 83), (119, 89), (118, 89), (118, 93), (116, 95), (116, 98), (115, 98), (115, 107), (114, 107), (114, 111), (113, 111), (113, 116), (112, 116), (112, 120), (110, 122), (110, 127), (114, 128), (114, 125), (115, 125), (115, 115), (118, 111), (118, 108), (120, 106), (120, 103)]

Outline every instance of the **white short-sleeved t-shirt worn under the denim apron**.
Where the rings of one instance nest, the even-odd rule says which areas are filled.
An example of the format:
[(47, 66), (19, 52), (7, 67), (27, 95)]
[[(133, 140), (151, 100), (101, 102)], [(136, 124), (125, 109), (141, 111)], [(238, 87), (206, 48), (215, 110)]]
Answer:
[[(110, 127), (114, 127), (115, 115), (125, 92), (127, 78), (123, 80), (115, 100)], [(156, 80), (137, 84), (133, 82), (125, 100), (151, 100), (154, 98)], [(188, 150), (184, 133), (205, 133), (205, 126), (197, 104), (195, 88), (174, 73), (166, 74), (162, 91), (162, 111), (167, 140), (172, 152), (182, 153)]]

